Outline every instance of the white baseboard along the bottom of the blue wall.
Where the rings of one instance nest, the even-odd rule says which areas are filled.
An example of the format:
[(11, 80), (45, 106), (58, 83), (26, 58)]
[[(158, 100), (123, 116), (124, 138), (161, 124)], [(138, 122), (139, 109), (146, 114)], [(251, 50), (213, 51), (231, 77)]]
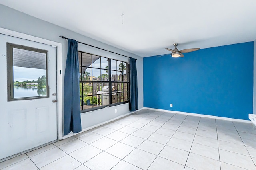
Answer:
[(203, 115), (198, 113), (187, 113), (182, 111), (172, 111), (172, 110), (164, 110), (164, 109), (154, 109), (150, 107), (143, 107), (143, 109), (149, 109), (149, 110), (155, 110), (155, 111), (164, 111), (168, 113), (177, 113), (182, 115), (191, 115), (191, 116), (200, 116), (200, 117), (208, 117), (213, 119), (220, 119), (220, 120), (228, 120), (228, 121), (238, 121), (238, 122), (244, 122), (244, 123), (252, 123), (250, 120), (243, 120), (243, 119), (233, 119), (228, 117), (219, 117), (219, 116), (212, 116), (212, 115)]

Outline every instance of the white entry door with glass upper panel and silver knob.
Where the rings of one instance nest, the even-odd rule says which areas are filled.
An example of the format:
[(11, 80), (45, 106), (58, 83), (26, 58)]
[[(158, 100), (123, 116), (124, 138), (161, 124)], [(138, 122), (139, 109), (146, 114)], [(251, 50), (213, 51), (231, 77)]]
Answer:
[(0, 160), (56, 140), (56, 48), (0, 34), (0, 75)]

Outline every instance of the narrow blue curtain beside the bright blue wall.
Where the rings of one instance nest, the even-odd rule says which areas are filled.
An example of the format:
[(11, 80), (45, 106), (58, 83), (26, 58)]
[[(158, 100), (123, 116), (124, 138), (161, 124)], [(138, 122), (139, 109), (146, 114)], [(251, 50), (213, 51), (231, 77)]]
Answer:
[(138, 110), (138, 84), (136, 59), (130, 57), (130, 111)]

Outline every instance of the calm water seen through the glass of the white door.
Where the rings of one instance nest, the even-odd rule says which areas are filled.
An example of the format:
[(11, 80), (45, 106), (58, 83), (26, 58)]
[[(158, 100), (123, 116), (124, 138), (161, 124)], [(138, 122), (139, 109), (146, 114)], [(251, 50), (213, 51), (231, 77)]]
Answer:
[(46, 88), (38, 88), (37, 86), (30, 87), (14, 87), (14, 98), (38, 97), (46, 96)]

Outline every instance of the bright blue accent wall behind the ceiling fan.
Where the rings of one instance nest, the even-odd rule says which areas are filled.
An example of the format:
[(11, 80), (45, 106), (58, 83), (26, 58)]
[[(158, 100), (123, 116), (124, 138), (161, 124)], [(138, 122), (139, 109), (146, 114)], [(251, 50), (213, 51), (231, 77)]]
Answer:
[[(248, 119), (253, 42), (143, 59), (144, 107)], [(170, 104), (173, 107), (170, 107)]]

